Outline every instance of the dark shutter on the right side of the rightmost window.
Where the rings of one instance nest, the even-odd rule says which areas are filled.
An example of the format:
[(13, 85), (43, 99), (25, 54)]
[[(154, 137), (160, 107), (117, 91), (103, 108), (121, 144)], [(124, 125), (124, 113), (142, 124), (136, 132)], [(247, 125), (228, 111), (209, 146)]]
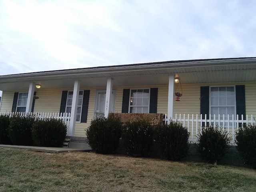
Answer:
[[(242, 115), (244, 115), (245, 119), (245, 87), (244, 85), (236, 85), (236, 114), (238, 114), (239, 120), (242, 119)], [(241, 123), (238, 125), (242, 126)]]

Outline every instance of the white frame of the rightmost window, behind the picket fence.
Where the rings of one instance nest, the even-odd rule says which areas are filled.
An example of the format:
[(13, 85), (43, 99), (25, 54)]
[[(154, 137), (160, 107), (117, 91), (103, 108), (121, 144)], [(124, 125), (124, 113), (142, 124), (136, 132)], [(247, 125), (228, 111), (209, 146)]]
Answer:
[[(212, 102), (211, 102), (211, 98), (212, 98), (212, 95), (211, 95), (211, 88), (213, 87), (233, 87), (234, 88), (234, 105), (212, 105)], [(211, 115), (211, 118), (213, 118), (214, 114), (211, 114), (211, 108), (212, 107), (234, 107), (234, 120), (236, 120), (236, 86), (234, 85), (222, 85), (222, 86), (210, 86), (210, 89), (209, 89), (209, 114)], [(219, 114), (215, 114), (216, 117), (218, 117)], [(228, 114), (227, 114), (228, 115)], [(227, 120), (227, 115), (225, 115), (225, 120)], [(220, 114), (220, 117), (223, 117), (223, 114)], [(229, 114), (229, 117), (230, 117), (230, 120), (232, 119), (232, 114), (230, 115)], [(226, 123), (225, 123), (226, 124)]]

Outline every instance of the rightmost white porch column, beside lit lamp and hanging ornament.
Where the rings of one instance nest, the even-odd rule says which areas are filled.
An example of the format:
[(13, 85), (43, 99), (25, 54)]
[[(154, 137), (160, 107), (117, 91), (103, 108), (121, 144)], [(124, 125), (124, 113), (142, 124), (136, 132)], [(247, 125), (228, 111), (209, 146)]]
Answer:
[(173, 115), (174, 74), (169, 75), (167, 120)]

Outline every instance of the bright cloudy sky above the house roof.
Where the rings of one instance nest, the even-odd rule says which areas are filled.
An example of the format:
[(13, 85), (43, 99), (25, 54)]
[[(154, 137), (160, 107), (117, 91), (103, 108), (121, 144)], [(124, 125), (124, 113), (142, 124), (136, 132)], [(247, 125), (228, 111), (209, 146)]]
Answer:
[(256, 1), (0, 0), (0, 75), (256, 56)]

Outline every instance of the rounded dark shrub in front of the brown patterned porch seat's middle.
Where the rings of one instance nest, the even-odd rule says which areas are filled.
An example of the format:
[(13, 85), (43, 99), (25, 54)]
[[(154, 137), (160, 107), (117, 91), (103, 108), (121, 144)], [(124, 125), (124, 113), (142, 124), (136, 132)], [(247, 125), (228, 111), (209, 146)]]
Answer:
[(148, 156), (153, 142), (153, 127), (149, 120), (140, 119), (126, 122), (122, 132), (122, 140), (127, 153), (131, 156)]

